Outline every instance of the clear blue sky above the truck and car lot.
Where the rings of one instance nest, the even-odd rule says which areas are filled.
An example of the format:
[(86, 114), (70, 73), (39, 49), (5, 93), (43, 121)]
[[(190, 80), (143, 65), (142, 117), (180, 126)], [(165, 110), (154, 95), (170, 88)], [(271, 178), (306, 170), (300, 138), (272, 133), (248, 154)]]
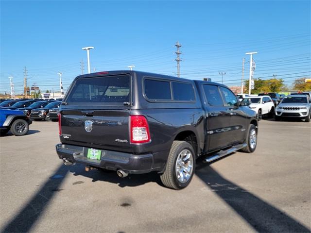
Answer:
[(93, 46), (91, 69), (135, 69), (175, 75), (173, 47), (182, 44), (181, 76), (210, 77), (240, 85), (242, 59), (258, 51), (255, 78), (272, 74), (292, 84), (311, 76), (311, 2), (298, 1), (3, 1), (1, 0), (0, 93), (64, 88), (81, 74)]

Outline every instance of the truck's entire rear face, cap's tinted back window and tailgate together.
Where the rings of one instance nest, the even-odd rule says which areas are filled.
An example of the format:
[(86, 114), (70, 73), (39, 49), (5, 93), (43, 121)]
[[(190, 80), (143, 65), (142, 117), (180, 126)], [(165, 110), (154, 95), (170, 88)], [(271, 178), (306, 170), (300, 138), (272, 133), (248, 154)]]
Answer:
[(61, 141), (128, 151), (131, 91), (130, 75), (78, 77), (60, 108)]

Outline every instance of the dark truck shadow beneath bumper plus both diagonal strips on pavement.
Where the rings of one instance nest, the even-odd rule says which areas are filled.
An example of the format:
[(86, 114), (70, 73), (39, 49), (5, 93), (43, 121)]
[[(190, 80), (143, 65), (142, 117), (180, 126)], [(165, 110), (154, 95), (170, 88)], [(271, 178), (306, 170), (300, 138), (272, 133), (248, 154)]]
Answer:
[[(52, 176), (40, 187), (20, 211), (8, 221), (1, 229), (1, 232), (29, 232), (35, 222), (44, 213), (54, 195), (62, 190), (60, 186), (69, 172), (72, 172), (73, 175), (76, 176), (82, 175), (89, 177), (93, 179), (93, 182), (106, 181), (118, 183), (121, 187), (138, 186), (148, 182), (156, 182), (163, 186), (156, 173), (119, 178), (115, 172), (102, 173), (96, 170), (86, 172), (84, 166), (67, 167), (62, 164), (56, 168)], [(310, 229), (286, 215), (284, 212), (276, 209), (264, 200), (259, 199), (237, 184), (226, 180), (208, 166), (208, 164), (203, 164), (198, 161), (196, 175), (255, 231), (260, 233), (310, 232)], [(230, 229), (227, 230), (230, 231)]]

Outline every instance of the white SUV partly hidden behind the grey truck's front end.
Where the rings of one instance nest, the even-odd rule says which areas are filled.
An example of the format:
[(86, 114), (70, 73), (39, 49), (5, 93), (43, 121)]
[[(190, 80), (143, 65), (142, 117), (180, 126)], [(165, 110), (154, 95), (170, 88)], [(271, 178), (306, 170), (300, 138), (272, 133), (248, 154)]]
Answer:
[(245, 99), (251, 100), (249, 107), (257, 113), (258, 120), (261, 120), (262, 115), (266, 114), (273, 117), (274, 103), (270, 96), (246, 97)]

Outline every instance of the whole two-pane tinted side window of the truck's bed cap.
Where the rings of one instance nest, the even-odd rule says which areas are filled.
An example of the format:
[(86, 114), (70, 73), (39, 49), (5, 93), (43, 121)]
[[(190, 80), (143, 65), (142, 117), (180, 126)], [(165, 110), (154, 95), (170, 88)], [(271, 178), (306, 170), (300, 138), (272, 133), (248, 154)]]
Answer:
[(149, 101), (195, 101), (191, 83), (145, 78), (143, 84), (144, 95)]

